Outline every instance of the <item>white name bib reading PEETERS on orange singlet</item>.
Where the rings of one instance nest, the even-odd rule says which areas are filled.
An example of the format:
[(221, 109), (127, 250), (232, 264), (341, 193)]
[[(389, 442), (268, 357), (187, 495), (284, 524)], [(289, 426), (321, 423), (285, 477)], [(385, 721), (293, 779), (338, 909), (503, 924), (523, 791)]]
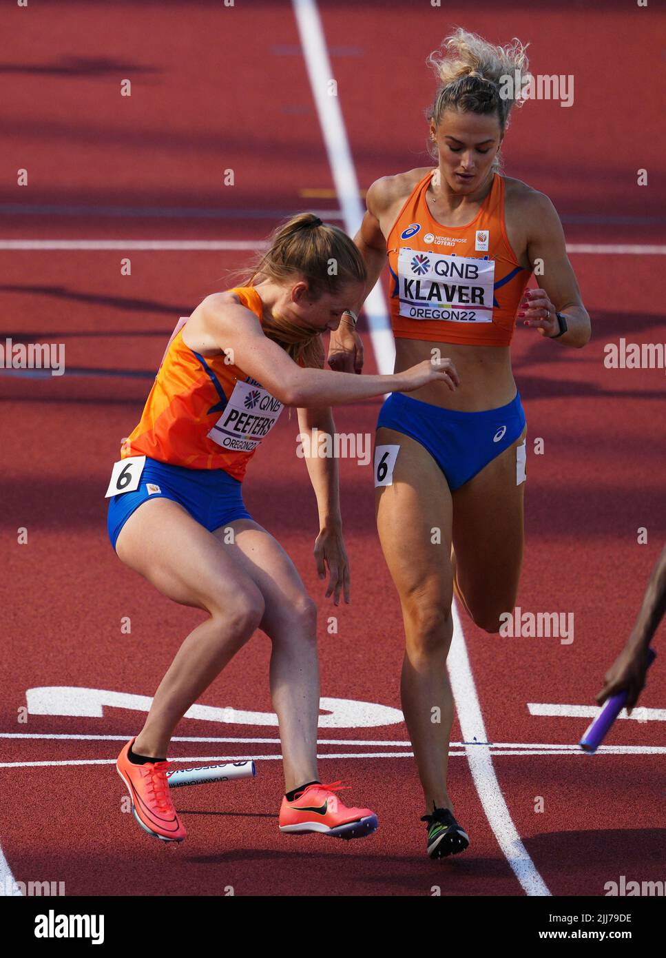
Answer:
[(208, 434), (233, 452), (253, 452), (276, 424), (282, 403), (254, 382), (236, 382), (224, 412)]

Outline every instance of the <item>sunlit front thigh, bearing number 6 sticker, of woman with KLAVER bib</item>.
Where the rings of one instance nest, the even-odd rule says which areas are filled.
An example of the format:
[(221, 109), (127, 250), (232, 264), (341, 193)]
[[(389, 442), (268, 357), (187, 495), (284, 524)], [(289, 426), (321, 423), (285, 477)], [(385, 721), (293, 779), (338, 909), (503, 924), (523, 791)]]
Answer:
[(446, 478), (431, 454), (401, 432), (378, 429), (376, 445), (399, 446), (391, 484), (375, 490), (377, 531), (393, 582), (403, 599), (427, 589), (451, 604), (452, 500)]

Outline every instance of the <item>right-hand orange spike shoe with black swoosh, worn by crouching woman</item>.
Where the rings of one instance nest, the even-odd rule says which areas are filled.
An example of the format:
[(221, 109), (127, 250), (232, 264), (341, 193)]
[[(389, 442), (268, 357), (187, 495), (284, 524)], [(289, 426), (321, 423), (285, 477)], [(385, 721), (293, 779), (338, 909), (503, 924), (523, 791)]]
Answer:
[(369, 809), (347, 809), (336, 789), (348, 788), (342, 782), (309, 785), (297, 792), (294, 801), (282, 799), (279, 810), (280, 832), (322, 832), (336, 838), (362, 838), (377, 829), (377, 816)]

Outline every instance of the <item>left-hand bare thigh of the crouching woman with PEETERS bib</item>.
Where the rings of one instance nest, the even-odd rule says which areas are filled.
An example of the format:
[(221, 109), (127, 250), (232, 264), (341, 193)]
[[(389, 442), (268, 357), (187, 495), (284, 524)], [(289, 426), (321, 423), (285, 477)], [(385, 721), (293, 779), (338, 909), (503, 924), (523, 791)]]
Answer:
[(147, 499), (132, 513), (116, 552), (174, 602), (209, 611), (241, 596), (260, 604), (255, 583), (233, 553), (171, 499)]

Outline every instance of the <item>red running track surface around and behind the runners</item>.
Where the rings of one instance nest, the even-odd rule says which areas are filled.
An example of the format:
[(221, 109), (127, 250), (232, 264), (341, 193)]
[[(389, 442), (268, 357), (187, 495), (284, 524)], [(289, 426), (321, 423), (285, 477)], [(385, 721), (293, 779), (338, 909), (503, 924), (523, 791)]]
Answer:
[[(463, 24), (498, 42), (531, 40), (536, 71), (575, 78), (574, 105), (527, 103), (505, 149), (507, 172), (551, 196), (568, 241), (663, 242), (660, 157), (649, 135), (663, 14), (611, 2), (571, 3), (566, 15), (550, 2), (500, 7), (320, 5), (362, 187), (425, 162), (422, 109), (432, 83), (424, 59)], [(337, 208), (335, 199), (300, 193), (330, 190), (332, 178), (289, 3), (58, 2), (8, 5), (2, 17), (11, 37), (2, 65), (3, 240), (262, 239), (288, 211)], [(132, 96), (123, 99), (125, 78)], [(29, 171), (27, 188), (14, 185), (19, 169)], [(227, 169), (233, 187), (223, 186)], [(649, 171), (648, 187), (635, 185), (639, 169)], [(0, 250), (6, 334), (64, 343), (67, 363), (60, 377), (0, 376), (0, 844), (14, 878), (63, 880), (71, 895), (219, 895), (229, 885), (237, 895), (430, 895), (435, 884), (442, 894), (524, 894), (461, 747), (453, 748), (451, 791), (472, 847), (445, 862), (426, 859), (407, 730), (377, 724), (371, 709), (355, 713), (366, 727), (351, 719), (321, 729), (322, 756), (355, 756), (323, 758), (322, 779), (344, 778), (353, 785), (344, 795), (380, 818), (378, 833), (348, 844), (278, 833), (280, 764), (262, 760), (279, 755), (277, 741), (174, 743), (172, 756), (193, 764), (253, 756), (257, 777), (176, 793), (189, 837), (171, 848), (122, 814), (110, 764), (142, 712), (112, 705), (77, 716), (61, 706), (17, 721), (35, 688), (152, 695), (198, 621), (122, 567), (102, 496), (168, 333), (246, 254), (132, 252), (131, 277), (120, 275), (123, 255)], [(528, 705), (592, 704), (666, 539), (664, 371), (603, 364), (604, 345), (621, 336), (664, 342), (664, 257), (571, 260), (592, 316), (588, 348), (559, 350), (519, 330), (513, 356), (531, 447), (519, 604), (573, 612), (574, 641), (489, 636), (464, 617), (462, 630), (488, 741), (515, 746), (494, 746), (492, 762), (535, 872), (553, 895), (603, 895), (620, 875), (664, 878), (666, 669), (657, 659), (641, 698), (662, 710), (660, 719), (621, 720), (610, 734), (609, 745), (638, 746), (633, 754), (529, 754), (529, 743), (571, 745), (587, 719), (534, 715)], [(370, 371), (369, 338), (367, 354)], [(339, 428), (372, 433), (377, 406), (339, 410)], [(330, 635), (297, 432), (295, 418), (283, 417), (252, 464), (247, 504), (318, 600), (322, 695), (398, 709), (402, 625), (374, 531), (370, 468), (341, 464), (352, 604)], [(533, 452), (537, 438), (543, 455)], [(17, 543), (19, 527), (27, 544)], [(647, 544), (637, 543), (640, 527)], [(200, 704), (270, 713), (267, 663), (268, 642), (257, 635)], [(38, 737), (47, 734), (73, 738)], [(275, 725), (210, 719), (184, 719), (178, 734), (277, 740)], [(453, 741), (461, 741), (457, 721)], [(371, 757), (384, 752), (399, 754)], [(56, 764), (78, 760), (106, 764)], [(543, 812), (535, 812), (537, 796)]]

